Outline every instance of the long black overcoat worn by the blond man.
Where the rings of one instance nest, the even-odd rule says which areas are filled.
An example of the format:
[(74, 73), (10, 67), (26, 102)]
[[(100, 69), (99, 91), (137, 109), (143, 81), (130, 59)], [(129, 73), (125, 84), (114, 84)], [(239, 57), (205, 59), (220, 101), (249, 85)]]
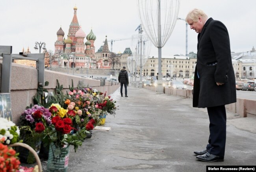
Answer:
[[(199, 76), (199, 78), (198, 78)], [(224, 83), (217, 86), (216, 82)], [(236, 102), (236, 79), (226, 26), (209, 18), (198, 34), (193, 107), (206, 108)]]

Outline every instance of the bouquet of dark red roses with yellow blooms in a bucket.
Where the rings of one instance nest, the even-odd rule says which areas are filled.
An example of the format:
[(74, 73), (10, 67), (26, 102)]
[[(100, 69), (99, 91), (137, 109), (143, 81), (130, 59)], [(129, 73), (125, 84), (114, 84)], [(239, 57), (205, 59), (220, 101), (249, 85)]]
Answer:
[(75, 152), (78, 146), (81, 146), (86, 133), (89, 134), (85, 128), (82, 128), (79, 132), (75, 134), (71, 133), (74, 129), (72, 119), (76, 115), (76, 112), (68, 109), (62, 108), (59, 104), (52, 104), (49, 108), (52, 119), (51, 124), (48, 125), (44, 118), (41, 118), (42, 123), (38, 124), (35, 132), (43, 133), (43, 142), (47, 145), (53, 143), (56, 146), (54, 150), (54, 155), (58, 156), (60, 154), (60, 148), (64, 145), (73, 145)]

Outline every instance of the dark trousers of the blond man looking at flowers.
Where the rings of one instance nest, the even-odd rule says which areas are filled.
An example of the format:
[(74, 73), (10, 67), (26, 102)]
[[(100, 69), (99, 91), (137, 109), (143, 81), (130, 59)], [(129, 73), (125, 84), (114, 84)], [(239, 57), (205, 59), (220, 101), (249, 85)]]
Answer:
[(207, 108), (210, 120), (209, 144), (210, 154), (224, 157), (226, 145), (226, 109), (225, 105)]

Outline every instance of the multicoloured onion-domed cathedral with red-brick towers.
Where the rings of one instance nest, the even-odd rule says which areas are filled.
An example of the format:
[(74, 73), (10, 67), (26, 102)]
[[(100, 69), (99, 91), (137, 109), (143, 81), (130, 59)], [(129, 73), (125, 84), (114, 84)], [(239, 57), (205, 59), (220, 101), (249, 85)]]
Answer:
[[(78, 23), (76, 15), (77, 7), (74, 7), (74, 16), (72, 22), (69, 26), (69, 34), (67, 39), (65, 39), (64, 31), (60, 27), (57, 31), (57, 40), (54, 44), (54, 58), (51, 62), (51, 67), (59, 68), (111, 68), (111, 61), (109, 60), (109, 49), (107, 38), (105, 40), (102, 51), (97, 53), (95, 57), (95, 46), (94, 42), (96, 36), (94, 35), (92, 29), (90, 33), (86, 36), (82, 27)], [(84, 38), (87, 41), (85, 42)], [(85, 43), (84, 43), (85, 42)]]

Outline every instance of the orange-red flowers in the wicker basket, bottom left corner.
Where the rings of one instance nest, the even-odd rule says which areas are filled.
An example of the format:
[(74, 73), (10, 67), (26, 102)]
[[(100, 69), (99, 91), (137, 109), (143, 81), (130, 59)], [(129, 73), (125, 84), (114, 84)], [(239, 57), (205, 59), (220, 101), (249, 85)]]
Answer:
[(1, 143), (0, 139), (0, 171), (1, 172), (16, 172), (19, 170), (20, 161), (15, 150)]

